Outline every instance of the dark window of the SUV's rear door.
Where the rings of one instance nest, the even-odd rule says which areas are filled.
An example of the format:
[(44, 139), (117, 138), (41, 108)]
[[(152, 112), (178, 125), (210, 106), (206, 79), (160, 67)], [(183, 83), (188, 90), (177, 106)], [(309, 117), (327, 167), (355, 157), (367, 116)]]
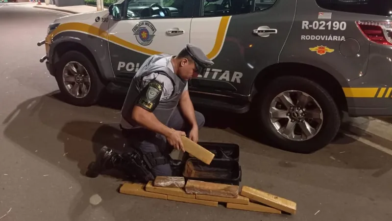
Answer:
[(204, 0), (203, 17), (246, 14), (270, 8), (276, 0)]

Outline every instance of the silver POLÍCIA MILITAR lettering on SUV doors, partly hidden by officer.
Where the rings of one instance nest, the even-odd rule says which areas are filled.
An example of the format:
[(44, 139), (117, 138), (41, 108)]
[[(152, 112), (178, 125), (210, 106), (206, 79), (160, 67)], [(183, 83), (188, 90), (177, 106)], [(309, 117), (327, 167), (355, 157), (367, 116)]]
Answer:
[[(140, 67), (140, 63), (120, 61), (117, 65), (117, 71), (136, 73), (139, 70), (139, 67)], [(241, 83), (242, 77), (243, 77), (242, 72), (238, 72), (238, 71), (231, 72), (228, 70), (221, 70), (216, 68), (206, 68), (206, 71), (204, 73), (199, 74), (197, 76), (197, 78), (212, 79), (212, 80), (226, 81), (232, 83)]]

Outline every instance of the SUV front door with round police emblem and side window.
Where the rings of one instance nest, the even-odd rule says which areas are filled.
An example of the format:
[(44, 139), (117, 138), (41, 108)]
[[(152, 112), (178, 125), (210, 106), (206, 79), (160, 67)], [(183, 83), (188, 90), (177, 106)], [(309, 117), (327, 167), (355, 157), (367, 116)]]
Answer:
[(123, 19), (111, 19), (108, 29), (110, 59), (117, 80), (130, 82), (150, 55), (176, 55), (189, 43), (193, 5), (184, 2), (123, 2)]

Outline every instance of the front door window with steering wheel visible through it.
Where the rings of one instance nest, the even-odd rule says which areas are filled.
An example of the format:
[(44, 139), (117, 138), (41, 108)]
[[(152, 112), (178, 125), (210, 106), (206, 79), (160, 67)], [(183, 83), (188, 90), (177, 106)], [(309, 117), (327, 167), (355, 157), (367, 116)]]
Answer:
[[(127, 18), (191, 18), (190, 0), (128, 0)], [(193, 1), (192, 1), (193, 2)], [(192, 3), (193, 4), (193, 3)]]

